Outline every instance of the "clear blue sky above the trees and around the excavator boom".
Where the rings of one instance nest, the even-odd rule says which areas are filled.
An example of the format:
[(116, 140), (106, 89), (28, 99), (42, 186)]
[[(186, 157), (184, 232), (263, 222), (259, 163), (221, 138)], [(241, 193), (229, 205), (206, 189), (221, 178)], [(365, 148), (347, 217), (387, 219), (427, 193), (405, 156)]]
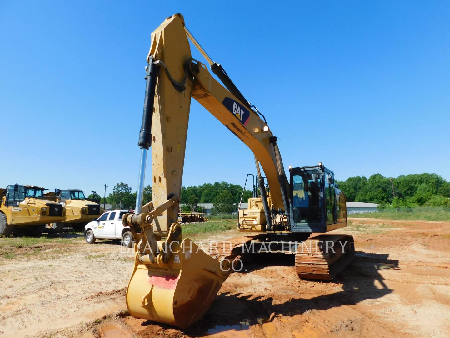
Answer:
[[(286, 166), (450, 180), (448, 1), (4, 0), (0, 186), (135, 189), (150, 34), (178, 12)], [(249, 172), (251, 151), (193, 100), (183, 184)]]

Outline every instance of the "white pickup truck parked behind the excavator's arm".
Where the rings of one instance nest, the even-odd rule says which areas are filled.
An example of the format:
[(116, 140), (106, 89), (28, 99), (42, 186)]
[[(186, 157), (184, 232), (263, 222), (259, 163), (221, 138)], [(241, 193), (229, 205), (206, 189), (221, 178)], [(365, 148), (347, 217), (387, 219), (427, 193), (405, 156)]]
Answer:
[(133, 246), (133, 235), (129, 227), (122, 225), (122, 216), (134, 210), (105, 211), (98, 219), (85, 225), (85, 240), (94, 244), (96, 239), (121, 239), (125, 247)]

